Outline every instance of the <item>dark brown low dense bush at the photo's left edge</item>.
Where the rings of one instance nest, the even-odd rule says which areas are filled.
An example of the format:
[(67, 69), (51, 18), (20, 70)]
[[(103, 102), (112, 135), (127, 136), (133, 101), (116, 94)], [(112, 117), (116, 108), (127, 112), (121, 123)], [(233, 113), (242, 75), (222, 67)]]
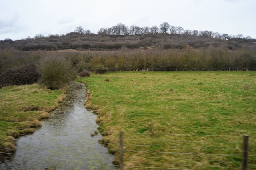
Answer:
[(40, 75), (36, 70), (36, 66), (29, 64), (9, 69), (0, 75), (0, 87), (8, 85), (26, 85), (33, 84), (38, 81)]

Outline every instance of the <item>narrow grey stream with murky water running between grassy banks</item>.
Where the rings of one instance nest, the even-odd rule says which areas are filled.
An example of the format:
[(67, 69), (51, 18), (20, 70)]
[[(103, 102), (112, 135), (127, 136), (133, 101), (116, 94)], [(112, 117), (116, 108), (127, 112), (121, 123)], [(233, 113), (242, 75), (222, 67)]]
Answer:
[(91, 136), (98, 125), (96, 115), (84, 108), (85, 99), (85, 86), (72, 83), (50, 119), (41, 121), (42, 127), (34, 134), (18, 139), (16, 155), (7, 165), (14, 169), (116, 169), (114, 156), (97, 142), (102, 136)]

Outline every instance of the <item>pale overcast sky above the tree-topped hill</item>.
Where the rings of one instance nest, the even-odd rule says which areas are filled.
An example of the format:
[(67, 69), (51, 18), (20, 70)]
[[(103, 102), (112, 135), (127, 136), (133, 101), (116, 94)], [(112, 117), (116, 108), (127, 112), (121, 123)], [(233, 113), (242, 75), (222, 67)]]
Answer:
[(256, 38), (256, 0), (0, 0), (0, 40), (168, 22)]

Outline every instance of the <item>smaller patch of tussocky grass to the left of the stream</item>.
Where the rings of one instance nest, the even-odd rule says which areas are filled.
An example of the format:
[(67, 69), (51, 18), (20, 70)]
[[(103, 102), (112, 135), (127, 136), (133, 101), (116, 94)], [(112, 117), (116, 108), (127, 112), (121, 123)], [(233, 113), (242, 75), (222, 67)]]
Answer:
[(0, 152), (14, 152), (14, 138), (34, 132), (38, 120), (48, 118), (64, 97), (62, 91), (38, 84), (0, 89)]

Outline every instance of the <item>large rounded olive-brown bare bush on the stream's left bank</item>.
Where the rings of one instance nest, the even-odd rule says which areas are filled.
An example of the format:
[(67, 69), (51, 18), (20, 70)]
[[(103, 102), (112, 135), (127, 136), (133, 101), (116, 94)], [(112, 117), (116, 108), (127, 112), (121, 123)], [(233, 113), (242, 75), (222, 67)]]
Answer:
[(39, 83), (48, 89), (60, 89), (76, 77), (71, 61), (59, 55), (50, 55), (40, 59), (38, 72), (41, 75)]

